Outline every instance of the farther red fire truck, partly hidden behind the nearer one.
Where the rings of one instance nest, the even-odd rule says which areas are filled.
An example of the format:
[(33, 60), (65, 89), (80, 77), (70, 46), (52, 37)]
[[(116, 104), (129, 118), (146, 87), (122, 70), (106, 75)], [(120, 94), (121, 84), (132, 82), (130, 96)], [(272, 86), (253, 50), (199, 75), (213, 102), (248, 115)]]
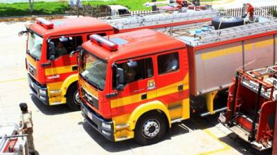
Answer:
[(67, 103), (73, 110), (78, 110), (78, 54), (70, 56), (70, 53), (87, 41), (89, 35), (105, 36), (143, 28), (168, 28), (209, 21), (215, 16), (217, 12), (211, 10), (161, 12), (105, 20), (80, 17), (47, 21), (38, 18), (24, 31), (28, 32), (26, 68), (30, 88), (46, 105)]

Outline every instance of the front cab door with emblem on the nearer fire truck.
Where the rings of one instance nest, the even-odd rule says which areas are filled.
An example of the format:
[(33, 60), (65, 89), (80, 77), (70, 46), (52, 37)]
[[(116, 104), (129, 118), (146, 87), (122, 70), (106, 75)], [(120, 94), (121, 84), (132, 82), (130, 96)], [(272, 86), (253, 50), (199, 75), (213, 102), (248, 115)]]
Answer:
[[(118, 68), (124, 70), (125, 83), (124, 90), (118, 91), (116, 99), (111, 100), (112, 114), (127, 114), (138, 105), (155, 99), (156, 85), (152, 57), (129, 59), (116, 64)], [(115, 79), (113, 74), (113, 81), (116, 81)], [(113, 82), (113, 85), (115, 84)], [(113, 89), (115, 90), (115, 87)]]

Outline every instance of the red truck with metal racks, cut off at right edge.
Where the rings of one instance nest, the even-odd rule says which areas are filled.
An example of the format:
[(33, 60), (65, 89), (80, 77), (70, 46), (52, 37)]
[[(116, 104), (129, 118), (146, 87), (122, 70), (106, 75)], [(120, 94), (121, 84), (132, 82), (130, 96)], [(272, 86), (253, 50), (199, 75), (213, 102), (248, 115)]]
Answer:
[(229, 87), (219, 121), (258, 150), (271, 148), (277, 99), (277, 66), (240, 70)]

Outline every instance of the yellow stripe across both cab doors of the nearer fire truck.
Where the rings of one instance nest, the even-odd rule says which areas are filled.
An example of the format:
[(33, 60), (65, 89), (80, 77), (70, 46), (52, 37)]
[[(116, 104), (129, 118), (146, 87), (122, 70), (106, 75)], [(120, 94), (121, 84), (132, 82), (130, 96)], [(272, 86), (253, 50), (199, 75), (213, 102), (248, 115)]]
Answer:
[[(164, 96), (166, 94), (173, 94), (175, 92), (179, 92), (179, 90), (177, 89), (178, 85), (184, 84), (184, 89), (183, 90), (188, 90), (188, 74), (186, 75), (185, 79), (183, 81), (179, 81), (177, 83), (173, 83), (172, 85), (168, 85), (166, 87), (161, 87), (158, 90), (152, 90), (150, 92), (146, 92), (147, 96), (148, 96), (148, 100), (149, 99), (154, 99), (155, 97), (160, 97), (160, 96)], [(141, 93), (141, 94), (135, 94), (132, 96), (126, 96), (123, 97), (121, 99), (114, 99), (111, 100), (111, 108), (114, 107), (121, 107), (124, 105), (129, 105), (132, 103), (137, 103), (142, 101), (141, 100), (141, 95), (144, 94), (145, 92)], [(157, 96), (156, 96), (157, 93)]]

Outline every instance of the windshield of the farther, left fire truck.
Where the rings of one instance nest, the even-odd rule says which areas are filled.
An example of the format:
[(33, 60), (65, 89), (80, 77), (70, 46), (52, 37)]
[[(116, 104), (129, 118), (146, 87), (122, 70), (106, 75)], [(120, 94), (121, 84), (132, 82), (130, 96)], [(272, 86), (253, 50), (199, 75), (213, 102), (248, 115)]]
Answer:
[(40, 60), (42, 55), (42, 37), (33, 32), (29, 32), (27, 52), (36, 60)]

